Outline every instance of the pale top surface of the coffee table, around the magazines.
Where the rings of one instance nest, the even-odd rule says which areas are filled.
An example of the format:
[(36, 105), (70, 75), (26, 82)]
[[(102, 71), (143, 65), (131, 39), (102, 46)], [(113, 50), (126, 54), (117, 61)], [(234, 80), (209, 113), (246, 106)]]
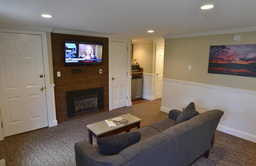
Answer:
[[(134, 123), (137, 123), (137, 122), (141, 121), (140, 118), (135, 117), (131, 114), (120, 115), (118, 117), (122, 117), (124, 119), (127, 119), (129, 121), (128, 124), (134, 124)], [(115, 118), (115, 117), (113, 117), (113, 118)], [(113, 118), (110, 118), (110, 119), (113, 119)], [(128, 124), (125, 124), (125, 125), (128, 125)], [(98, 136), (98, 135), (116, 130), (117, 128), (124, 127), (125, 125), (119, 126), (119, 127), (108, 127), (108, 124), (106, 124), (105, 120), (103, 120), (103, 121), (100, 121), (100, 122), (89, 124), (86, 127)]]

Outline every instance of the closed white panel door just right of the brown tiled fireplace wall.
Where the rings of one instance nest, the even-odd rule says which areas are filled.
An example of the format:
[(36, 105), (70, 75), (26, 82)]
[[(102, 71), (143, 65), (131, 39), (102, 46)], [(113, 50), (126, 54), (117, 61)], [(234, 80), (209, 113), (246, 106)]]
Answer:
[(127, 43), (111, 42), (112, 52), (112, 109), (127, 104)]

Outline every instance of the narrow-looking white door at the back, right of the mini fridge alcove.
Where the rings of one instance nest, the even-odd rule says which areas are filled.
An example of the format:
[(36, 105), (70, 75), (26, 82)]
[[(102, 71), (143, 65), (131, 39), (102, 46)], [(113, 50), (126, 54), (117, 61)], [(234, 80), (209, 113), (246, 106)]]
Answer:
[(164, 44), (156, 43), (155, 99), (162, 98)]

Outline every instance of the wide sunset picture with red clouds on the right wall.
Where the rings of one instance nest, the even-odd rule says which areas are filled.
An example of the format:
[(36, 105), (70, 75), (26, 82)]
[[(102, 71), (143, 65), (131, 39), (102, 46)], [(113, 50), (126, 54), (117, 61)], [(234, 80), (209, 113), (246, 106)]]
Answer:
[(256, 44), (210, 46), (208, 73), (256, 77)]

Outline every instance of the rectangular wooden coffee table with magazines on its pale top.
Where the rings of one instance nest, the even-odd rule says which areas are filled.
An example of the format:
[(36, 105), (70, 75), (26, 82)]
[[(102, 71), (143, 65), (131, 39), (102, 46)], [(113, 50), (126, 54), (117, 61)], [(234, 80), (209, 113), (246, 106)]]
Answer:
[(96, 139), (99, 139), (102, 137), (108, 137), (110, 135), (118, 134), (121, 132), (130, 132), (130, 130), (135, 127), (137, 127), (137, 129), (140, 128), (140, 121), (141, 121), (140, 118), (135, 117), (131, 114), (125, 114), (118, 117), (127, 119), (130, 122), (128, 122), (128, 124), (125, 124), (119, 127), (108, 127), (108, 124), (106, 124), (105, 120), (87, 125), (86, 127), (88, 128), (88, 132), (89, 132), (89, 143), (92, 144), (92, 135)]

